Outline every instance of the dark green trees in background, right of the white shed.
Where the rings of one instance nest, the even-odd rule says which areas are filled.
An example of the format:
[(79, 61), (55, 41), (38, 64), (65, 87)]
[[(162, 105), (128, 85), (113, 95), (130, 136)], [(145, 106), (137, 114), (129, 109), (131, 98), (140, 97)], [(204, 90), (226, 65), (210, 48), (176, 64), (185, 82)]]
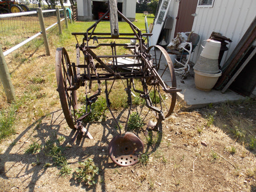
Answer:
[(155, 15), (159, 0), (137, 0), (136, 13), (147, 11)]

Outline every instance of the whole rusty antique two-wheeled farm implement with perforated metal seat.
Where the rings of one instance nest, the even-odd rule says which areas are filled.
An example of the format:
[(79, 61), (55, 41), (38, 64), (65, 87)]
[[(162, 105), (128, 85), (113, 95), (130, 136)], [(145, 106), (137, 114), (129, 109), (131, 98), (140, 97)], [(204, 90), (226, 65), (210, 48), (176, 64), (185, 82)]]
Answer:
[[(109, 10), (84, 33), (72, 33), (76, 37), (82, 36), (82, 43), (76, 44), (76, 63), (71, 62), (65, 48), (56, 50), (56, 77), (57, 91), (65, 115), (66, 121), (71, 129), (76, 129), (77, 134), (87, 132), (82, 125), (82, 119), (86, 118), (92, 112), (91, 106), (101, 94), (101, 86), (105, 86), (106, 105), (108, 106), (120, 134), (112, 139), (109, 144), (109, 155), (111, 159), (120, 166), (133, 165), (138, 162), (139, 154), (143, 152), (143, 143), (134, 133), (126, 132), (126, 125), (132, 108), (132, 92), (137, 93), (145, 100), (147, 108), (155, 112), (157, 122), (149, 121), (148, 127), (157, 131), (164, 118), (170, 116), (173, 112), (176, 95), (176, 78), (172, 60), (161, 46), (147, 47), (146, 37), (150, 33), (142, 33), (133, 23), (130, 22), (121, 12), (117, 10), (116, 0), (108, 2)], [(106, 15), (110, 15), (111, 32), (95, 32), (97, 25)], [(119, 33), (118, 15), (129, 24), (133, 33)], [(138, 41), (138, 44), (124, 44), (119, 42), (105, 42), (105, 39), (126, 39)], [(103, 43), (98, 41), (103, 40)], [(123, 40), (122, 40), (123, 41)], [(97, 45), (94, 45), (96, 43)], [(132, 54), (118, 55), (118, 48), (124, 47), (132, 49)], [(96, 55), (93, 50), (99, 48), (110, 50), (107, 55)], [(109, 49), (108, 49), (109, 48)], [(104, 51), (100, 53), (103, 54)], [(84, 59), (80, 61), (80, 53)], [(127, 62), (130, 63), (127, 63)], [(130, 69), (126, 71), (125, 69)], [(165, 79), (165, 81), (163, 80)], [(125, 135), (121, 136), (121, 129), (117, 118), (111, 110), (109, 95), (113, 93), (113, 84), (115, 81), (125, 81), (123, 83), (127, 93), (127, 118), (125, 121)], [(89, 95), (92, 84), (95, 82), (97, 91)], [(111, 83), (110, 83), (111, 82)], [(140, 89), (137, 88), (140, 84)], [(81, 117), (76, 117), (78, 110), (77, 91), (78, 88), (85, 87), (86, 91), (86, 113)], [(158, 99), (158, 101), (156, 101)], [(76, 135), (77, 135), (76, 134)], [(75, 136), (76, 137), (76, 136)]]

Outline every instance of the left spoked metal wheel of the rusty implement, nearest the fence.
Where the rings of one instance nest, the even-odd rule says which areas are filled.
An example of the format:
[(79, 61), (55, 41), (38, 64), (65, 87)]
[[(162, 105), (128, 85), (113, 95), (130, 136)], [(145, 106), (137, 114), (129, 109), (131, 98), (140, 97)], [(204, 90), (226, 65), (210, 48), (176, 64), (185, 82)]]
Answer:
[(56, 50), (57, 91), (65, 119), (71, 129), (76, 129), (77, 96), (74, 89), (74, 74), (65, 48)]

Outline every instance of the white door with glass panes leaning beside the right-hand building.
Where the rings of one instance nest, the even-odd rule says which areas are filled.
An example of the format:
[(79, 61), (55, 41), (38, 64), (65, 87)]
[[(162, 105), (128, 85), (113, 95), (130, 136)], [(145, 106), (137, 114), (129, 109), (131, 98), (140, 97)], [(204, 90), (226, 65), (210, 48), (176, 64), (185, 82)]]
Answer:
[(154, 28), (153, 28), (153, 31), (152, 31), (153, 35), (150, 38), (152, 46), (157, 45), (159, 35), (161, 33), (161, 30), (162, 30), (167, 12), (169, 10), (170, 1), (172, 1), (172, 0), (162, 0), (162, 2), (161, 2), (161, 6), (160, 6), (160, 9), (157, 13), (157, 17), (156, 17), (156, 20), (155, 20), (155, 25), (154, 25)]

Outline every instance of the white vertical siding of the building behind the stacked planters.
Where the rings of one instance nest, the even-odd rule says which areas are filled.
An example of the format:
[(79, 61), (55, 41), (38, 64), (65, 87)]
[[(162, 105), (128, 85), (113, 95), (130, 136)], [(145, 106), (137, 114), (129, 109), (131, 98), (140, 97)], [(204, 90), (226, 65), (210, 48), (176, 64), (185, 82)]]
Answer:
[(252, 23), (256, 15), (255, 0), (215, 0), (212, 8), (197, 8), (192, 31), (200, 35), (200, 41), (191, 56), (191, 61), (196, 62), (212, 31), (221, 33), (232, 40), (225, 51), (221, 66), (236, 48), (238, 42)]

